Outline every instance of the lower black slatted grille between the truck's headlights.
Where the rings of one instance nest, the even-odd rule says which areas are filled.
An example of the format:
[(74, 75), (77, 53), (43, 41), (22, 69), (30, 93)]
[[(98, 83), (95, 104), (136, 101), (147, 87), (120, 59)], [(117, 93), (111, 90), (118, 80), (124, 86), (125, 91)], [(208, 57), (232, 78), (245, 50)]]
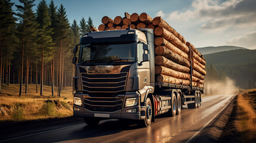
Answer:
[(113, 112), (121, 110), (123, 97), (84, 98), (84, 108), (90, 111)]

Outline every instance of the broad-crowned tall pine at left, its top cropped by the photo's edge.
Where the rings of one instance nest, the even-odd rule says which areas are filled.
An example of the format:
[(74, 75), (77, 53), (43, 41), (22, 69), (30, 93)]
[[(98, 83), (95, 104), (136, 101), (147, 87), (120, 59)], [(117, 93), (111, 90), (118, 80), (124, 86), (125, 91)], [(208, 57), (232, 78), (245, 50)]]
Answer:
[[(16, 5), (17, 17), (20, 20), (18, 23), (18, 32), (21, 39), (21, 60), (20, 60), (20, 97), (22, 93), (23, 83), (23, 66), (24, 66), (24, 48), (33, 47), (35, 48), (37, 27), (38, 24), (35, 21), (35, 13), (33, 13), (33, 2), (35, 0), (19, 0), (22, 5)], [(27, 50), (28, 51), (28, 50)]]

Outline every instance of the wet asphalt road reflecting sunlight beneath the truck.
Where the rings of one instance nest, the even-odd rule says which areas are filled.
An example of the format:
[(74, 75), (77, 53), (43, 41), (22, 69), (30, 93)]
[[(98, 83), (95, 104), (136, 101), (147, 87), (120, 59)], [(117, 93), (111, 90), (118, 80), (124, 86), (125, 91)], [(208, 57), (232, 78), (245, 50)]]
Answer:
[[(197, 135), (235, 95), (202, 98), (200, 108), (183, 105), (175, 117), (158, 117), (149, 128), (140, 128), (119, 120), (103, 120), (97, 127), (79, 122), (43, 132), (15, 136), (5, 142), (188, 142)], [(1, 141), (0, 141), (1, 142)]]

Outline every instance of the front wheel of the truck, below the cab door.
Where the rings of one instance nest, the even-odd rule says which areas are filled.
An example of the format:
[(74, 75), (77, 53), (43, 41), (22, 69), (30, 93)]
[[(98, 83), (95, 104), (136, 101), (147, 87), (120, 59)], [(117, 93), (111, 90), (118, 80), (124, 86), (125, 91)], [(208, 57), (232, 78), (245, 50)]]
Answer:
[(146, 116), (144, 120), (140, 120), (140, 126), (148, 127), (151, 125), (153, 108), (149, 98), (146, 100)]

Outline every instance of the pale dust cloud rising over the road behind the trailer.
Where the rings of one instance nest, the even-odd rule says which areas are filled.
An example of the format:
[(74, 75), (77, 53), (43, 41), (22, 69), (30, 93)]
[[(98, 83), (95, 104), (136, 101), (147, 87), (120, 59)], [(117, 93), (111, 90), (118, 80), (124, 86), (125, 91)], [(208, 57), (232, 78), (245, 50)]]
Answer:
[(205, 81), (205, 95), (234, 95), (238, 94), (239, 87), (235, 86), (235, 81), (229, 77), (225, 77), (221, 81)]

